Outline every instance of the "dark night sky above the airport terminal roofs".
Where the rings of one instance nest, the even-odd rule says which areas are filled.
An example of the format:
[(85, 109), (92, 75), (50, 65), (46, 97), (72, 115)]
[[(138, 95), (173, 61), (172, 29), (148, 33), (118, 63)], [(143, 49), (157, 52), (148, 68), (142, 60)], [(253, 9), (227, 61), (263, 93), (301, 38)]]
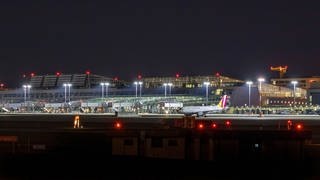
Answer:
[(320, 10), (307, 1), (102, 0), (0, 2), (0, 81), (24, 73), (120, 79), (320, 75)]

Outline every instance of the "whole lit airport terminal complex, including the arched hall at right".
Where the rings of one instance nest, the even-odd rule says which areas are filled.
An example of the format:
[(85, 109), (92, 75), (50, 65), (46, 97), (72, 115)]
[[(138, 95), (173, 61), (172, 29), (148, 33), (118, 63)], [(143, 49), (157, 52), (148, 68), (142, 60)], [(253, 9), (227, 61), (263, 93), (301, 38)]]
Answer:
[(1, 104), (17, 104), (17, 106), (26, 102), (45, 104), (79, 101), (87, 105), (112, 102), (118, 104), (117, 106), (131, 104), (140, 107), (143, 102), (148, 106), (147, 109), (166, 102), (183, 103), (185, 106), (217, 104), (225, 94), (231, 97), (229, 106), (250, 104), (250, 106), (290, 107), (294, 104), (296, 106), (308, 104), (305, 89), (293, 90), (292, 87), (267, 83), (262, 83), (260, 87), (258, 82), (250, 86), (249, 103), (249, 87), (244, 81), (220, 75), (145, 77), (135, 82), (88, 73), (36, 75), (25, 79), (21, 88), (0, 91)]

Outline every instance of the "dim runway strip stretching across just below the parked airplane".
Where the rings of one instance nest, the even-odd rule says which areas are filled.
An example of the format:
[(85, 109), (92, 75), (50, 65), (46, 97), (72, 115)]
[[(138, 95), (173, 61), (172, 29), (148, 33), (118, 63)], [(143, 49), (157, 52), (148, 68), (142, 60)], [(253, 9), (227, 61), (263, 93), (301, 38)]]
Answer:
[[(219, 128), (225, 128), (230, 121), (233, 129), (241, 130), (282, 130), (287, 128), (288, 121), (292, 126), (298, 123), (304, 130), (315, 130), (319, 127), (319, 115), (239, 115), (239, 114), (208, 114), (207, 117), (185, 117), (183, 114), (118, 114), (113, 113), (10, 113), (0, 114), (0, 129), (67, 129), (74, 128), (75, 118), (79, 118), (79, 126), (84, 129), (110, 129), (115, 122), (121, 122), (126, 129), (177, 128), (177, 122), (186, 119), (197, 123), (205, 122), (207, 126), (216, 123)], [(179, 127), (178, 127), (179, 128)]]

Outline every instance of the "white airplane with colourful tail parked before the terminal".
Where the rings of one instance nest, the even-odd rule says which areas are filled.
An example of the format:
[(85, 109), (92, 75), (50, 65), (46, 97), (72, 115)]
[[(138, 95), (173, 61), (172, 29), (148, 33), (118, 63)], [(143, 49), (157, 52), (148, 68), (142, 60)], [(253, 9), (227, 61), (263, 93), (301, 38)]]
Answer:
[(180, 113), (183, 113), (186, 116), (191, 116), (193, 114), (196, 114), (197, 117), (205, 116), (208, 112), (222, 112), (227, 109), (226, 104), (227, 95), (224, 95), (216, 106), (185, 106), (180, 110)]

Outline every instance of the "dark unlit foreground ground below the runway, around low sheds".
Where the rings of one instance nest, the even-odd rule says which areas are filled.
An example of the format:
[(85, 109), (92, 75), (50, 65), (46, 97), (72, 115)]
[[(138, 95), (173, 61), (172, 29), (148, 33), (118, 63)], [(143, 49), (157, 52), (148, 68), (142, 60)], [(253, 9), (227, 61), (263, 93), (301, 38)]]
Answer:
[[(287, 121), (279, 121), (282, 123), (280, 124), (278, 121), (235, 120), (231, 121), (233, 125), (230, 128), (229, 126), (225, 127), (225, 121), (221, 120), (218, 122), (218, 127), (222, 128), (217, 131), (203, 132), (197, 129), (182, 129), (179, 130), (181, 131), (179, 133), (174, 128), (169, 130), (162, 128), (155, 132), (155, 129), (159, 129), (159, 126), (162, 127), (163, 124), (150, 123), (150, 119), (142, 119), (143, 122), (138, 119), (139, 122), (132, 124), (129, 122), (136, 120), (128, 119), (123, 126), (124, 129), (130, 127), (129, 130), (121, 131), (114, 129), (113, 119), (106, 121), (104, 118), (87, 117), (88, 119), (85, 121), (86, 117), (81, 117), (81, 122), (86, 127), (84, 129), (73, 128), (73, 117), (41, 116), (36, 118), (32, 115), (3, 116), (2, 118), (0, 121), (2, 138), (6, 137), (4, 135), (16, 136), (18, 141), (15, 142), (16, 146), (13, 146), (15, 147), (15, 155), (0, 155), (0, 180), (320, 179), (320, 149), (311, 148), (308, 151), (306, 149), (306, 153), (299, 151), (300, 146), (297, 143), (299, 141), (296, 141), (296, 138), (311, 140), (311, 135), (304, 137), (304, 131), (297, 133), (288, 131)], [(319, 122), (316, 120), (310, 121), (309, 124), (306, 121), (304, 123), (306, 130), (313, 130), (312, 142), (317, 144), (320, 144)], [(149, 129), (140, 130), (146, 126)], [(249, 128), (253, 131), (240, 132), (243, 128)], [(226, 144), (226, 146), (214, 149), (218, 150), (213, 153), (215, 161), (146, 159), (143, 157), (149, 156), (143, 156), (143, 153), (140, 152), (137, 153), (137, 157), (110, 156), (113, 137), (137, 138), (138, 144), (138, 142), (145, 142), (145, 139), (148, 140), (148, 138), (152, 141), (153, 137), (157, 142), (156, 140), (159, 139), (157, 137), (162, 136), (186, 138), (185, 142), (187, 143), (181, 145), (181, 148), (186, 150), (186, 159), (191, 159), (189, 155), (195, 154), (190, 153), (190, 147), (201, 149), (203, 146), (202, 150), (206, 150), (205, 147), (209, 142), (207, 137), (211, 137), (217, 143)], [(200, 139), (198, 146), (195, 146), (196, 141), (191, 141), (196, 138)], [(231, 139), (234, 142), (233, 146), (224, 143), (225, 138), (226, 140)], [(279, 139), (285, 141), (279, 141)], [(274, 140), (276, 140), (275, 143)], [(265, 155), (262, 154), (264, 151), (252, 148), (251, 145), (257, 143), (265, 145), (268, 152), (274, 150), (275, 155), (273, 153)], [(30, 144), (45, 144), (49, 152), (32, 154)], [(141, 150), (141, 147), (143, 149), (149, 147), (145, 143), (143, 143), (144, 146), (141, 144), (136, 146), (139, 147), (138, 150)], [(282, 144), (284, 145), (282, 146)], [(0, 146), (1, 152), (12, 152), (10, 143), (2, 142), (2, 145)], [(9, 151), (4, 151), (4, 148), (1, 149), (1, 147), (7, 147)], [(233, 152), (231, 148), (236, 147), (239, 157), (229, 157), (228, 152)], [(291, 151), (290, 148), (299, 148), (299, 150), (292, 149)], [(278, 152), (279, 149), (281, 152)], [(295, 152), (301, 152), (301, 154)], [(290, 153), (292, 154), (286, 156)], [(296, 159), (288, 159), (288, 157)]]

